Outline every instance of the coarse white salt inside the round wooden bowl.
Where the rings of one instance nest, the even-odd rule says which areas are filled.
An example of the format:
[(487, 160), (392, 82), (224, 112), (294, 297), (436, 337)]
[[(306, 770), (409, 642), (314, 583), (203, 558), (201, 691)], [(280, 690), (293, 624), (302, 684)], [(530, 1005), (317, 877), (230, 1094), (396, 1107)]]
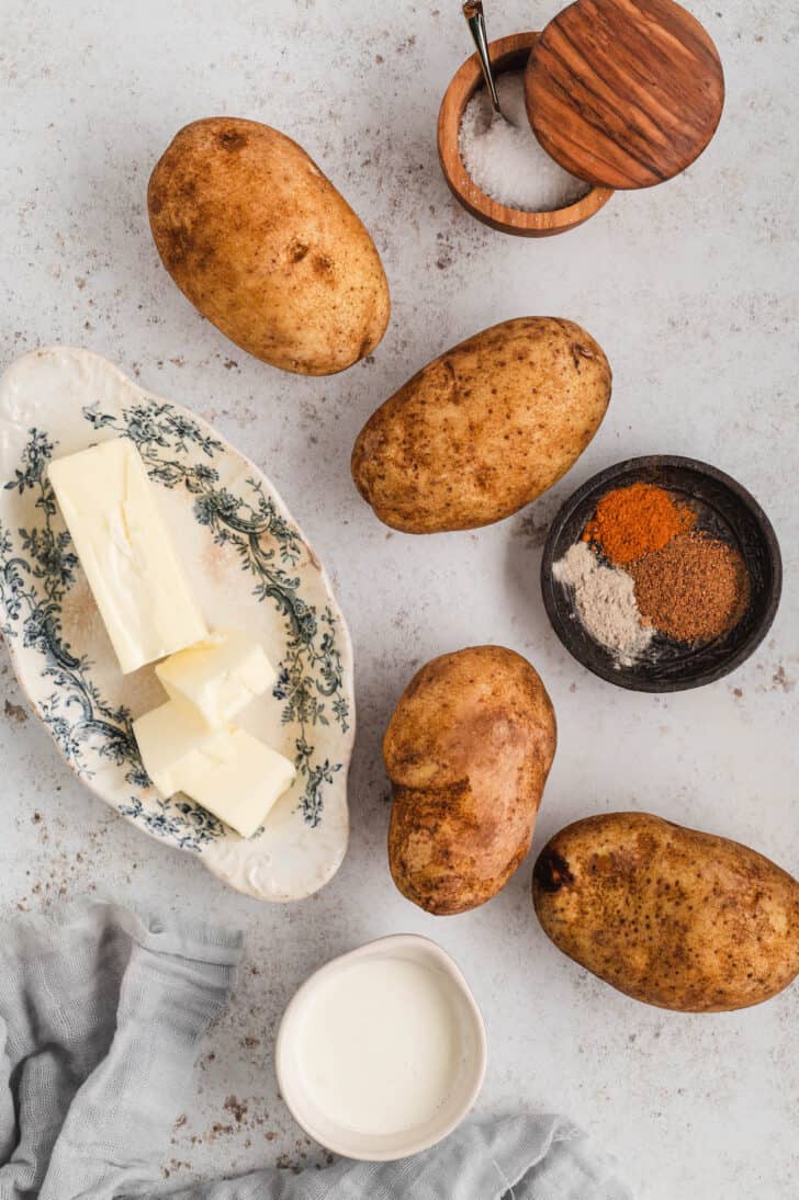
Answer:
[(589, 185), (550, 158), (532, 132), (524, 73), (497, 76), (496, 91), (507, 121), (494, 112), (487, 89), (478, 88), (460, 122), (460, 157), (479, 190), (523, 212), (551, 212), (585, 196)]

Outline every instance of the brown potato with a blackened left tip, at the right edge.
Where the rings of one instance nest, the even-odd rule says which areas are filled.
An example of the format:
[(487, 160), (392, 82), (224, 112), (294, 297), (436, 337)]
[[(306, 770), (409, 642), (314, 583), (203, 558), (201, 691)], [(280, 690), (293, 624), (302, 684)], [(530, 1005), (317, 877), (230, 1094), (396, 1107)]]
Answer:
[(561, 829), (532, 899), (564, 954), (646, 1004), (747, 1008), (799, 973), (799, 883), (747, 846), (646, 812)]

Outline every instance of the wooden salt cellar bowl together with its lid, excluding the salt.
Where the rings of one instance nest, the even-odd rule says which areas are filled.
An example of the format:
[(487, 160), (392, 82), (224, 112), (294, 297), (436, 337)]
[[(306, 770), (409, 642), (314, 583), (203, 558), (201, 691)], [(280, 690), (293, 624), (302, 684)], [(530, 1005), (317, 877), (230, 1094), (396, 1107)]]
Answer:
[(439, 157), (464, 208), (505, 233), (564, 233), (594, 216), (615, 188), (672, 179), (702, 154), (721, 118), (718, 53), (674, 0), (577, 0), (542, 34), (502, 37), (489, 50), (495, 73), (524, 70), (527, 118), (544, 150), (592, 185), (554, 212), (511, 209), (476, 187), (459, 150), (464, 109), (482, 83), (472, 55), (441, 104)]

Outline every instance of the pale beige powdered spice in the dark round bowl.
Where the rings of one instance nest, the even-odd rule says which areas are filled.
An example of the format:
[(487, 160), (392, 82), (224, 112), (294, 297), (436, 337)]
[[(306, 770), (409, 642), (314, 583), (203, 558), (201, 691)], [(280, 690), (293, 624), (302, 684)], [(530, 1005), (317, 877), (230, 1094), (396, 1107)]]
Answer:
[(642, 624), (632, 576), (606, 566), (584, 541), (570, 546), (553, 566), (553, 577), (574, 589), (574, 605), (585, 632), (610, 650), (614, 665), (628, 667), (655, 636)]

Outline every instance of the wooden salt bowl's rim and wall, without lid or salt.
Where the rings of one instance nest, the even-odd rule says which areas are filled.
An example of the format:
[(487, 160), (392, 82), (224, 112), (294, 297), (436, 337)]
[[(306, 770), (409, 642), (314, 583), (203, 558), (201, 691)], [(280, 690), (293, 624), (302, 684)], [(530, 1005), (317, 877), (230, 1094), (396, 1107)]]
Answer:
[[(494, 73), (524, 71), (530, 49), (538, 40), (537, 31), (500, 37), (489, 46)], [(484, 224), (502, 233), (523, 238), (548, 238), (565, 233), (588, 221), (613, 196), (608, 187), (592, 187), (576, 204), (551, 212), (524, 212), (509, 209), (482, 192), (467, 174), (460, 157), (458, 138), (466, 104), (483, 83), (479, 61), (472, 54), (453, 76), (439, 112), (439, 158), (447, 185), (463, 206)]]

